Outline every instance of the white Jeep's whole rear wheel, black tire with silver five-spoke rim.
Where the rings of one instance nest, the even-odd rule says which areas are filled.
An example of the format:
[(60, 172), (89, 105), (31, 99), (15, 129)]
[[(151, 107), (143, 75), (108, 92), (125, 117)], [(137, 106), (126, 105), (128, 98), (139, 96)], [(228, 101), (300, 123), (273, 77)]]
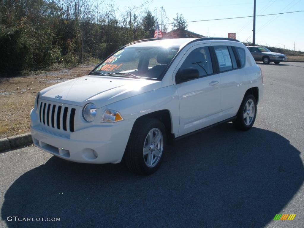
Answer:
[(237, 112), (237, 119), (233, 121), (233, 125), (239, 130), (247, 131), (253, 126), (256, 116), (257, 101), (252, 94), (247, 94)]

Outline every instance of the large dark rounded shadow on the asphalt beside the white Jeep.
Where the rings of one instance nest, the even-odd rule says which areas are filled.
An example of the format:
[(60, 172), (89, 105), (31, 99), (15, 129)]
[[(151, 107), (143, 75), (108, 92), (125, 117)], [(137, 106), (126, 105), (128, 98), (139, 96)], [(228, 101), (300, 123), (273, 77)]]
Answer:
[(283, 208), (303, 184), (299, 154), (275, 132), (226, 123), (177, 141), (148, 177), (53, 156), (11, 185), (1, 215), (8, 227), (264, 227), (296, 213)]

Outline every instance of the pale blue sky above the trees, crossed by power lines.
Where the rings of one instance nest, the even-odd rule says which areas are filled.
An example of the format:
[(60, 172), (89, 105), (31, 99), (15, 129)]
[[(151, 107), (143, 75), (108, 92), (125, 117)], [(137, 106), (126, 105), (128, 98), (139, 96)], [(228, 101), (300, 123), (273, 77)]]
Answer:
[[(107, 1), (105, 1), (107, 2)], [(128, 8), (140, 6), (144, 0), (112, 0), (111, 3), (124, 12)], [(176, 13), (181, 13), (187, 21), (253, 16), (254, 0), (153, 0), (144, 8), (156, 16), (161, 6), (166, 10), (169, 23)], [(157, 10), (155, 10), (157, 9)], [(141, 7), (132, 12), (140, 13)], [(256, 0), (256, 15), (304, 10), (304, 0)], [(160, 17), (160, 14), (157, 15)], [(203, 36), (228, 37), (236, 33), (237, 40), (252, 42), (253, 18), (227, 19), (219, 21), (189, 22), (188, 30)], [(171, 27), (169, 26), (169, 31)], [(304, 12), (256, 17), (256, 43), (273, 47), (304, 51)]]

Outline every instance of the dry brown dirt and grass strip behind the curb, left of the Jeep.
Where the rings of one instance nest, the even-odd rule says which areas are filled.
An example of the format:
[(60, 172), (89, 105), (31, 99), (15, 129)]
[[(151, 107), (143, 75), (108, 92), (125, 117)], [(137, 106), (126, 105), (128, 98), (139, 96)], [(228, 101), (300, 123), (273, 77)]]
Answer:
[(0, 78), (0, 138), (29, 132), (29, 113), (37, 92), (88, 74), (94, 65), (32, 73), (22, 77)]

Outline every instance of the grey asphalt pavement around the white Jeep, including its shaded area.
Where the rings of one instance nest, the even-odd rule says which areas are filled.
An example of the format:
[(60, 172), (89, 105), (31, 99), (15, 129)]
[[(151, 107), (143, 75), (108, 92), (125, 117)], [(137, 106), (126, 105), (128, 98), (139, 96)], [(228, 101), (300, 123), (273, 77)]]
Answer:
[(258, 65), (254, 127), (225, 123), (178, 140), (151, 176), (34, 146), (0, 154), (0, 227), (304, 227), (304, 63)]

